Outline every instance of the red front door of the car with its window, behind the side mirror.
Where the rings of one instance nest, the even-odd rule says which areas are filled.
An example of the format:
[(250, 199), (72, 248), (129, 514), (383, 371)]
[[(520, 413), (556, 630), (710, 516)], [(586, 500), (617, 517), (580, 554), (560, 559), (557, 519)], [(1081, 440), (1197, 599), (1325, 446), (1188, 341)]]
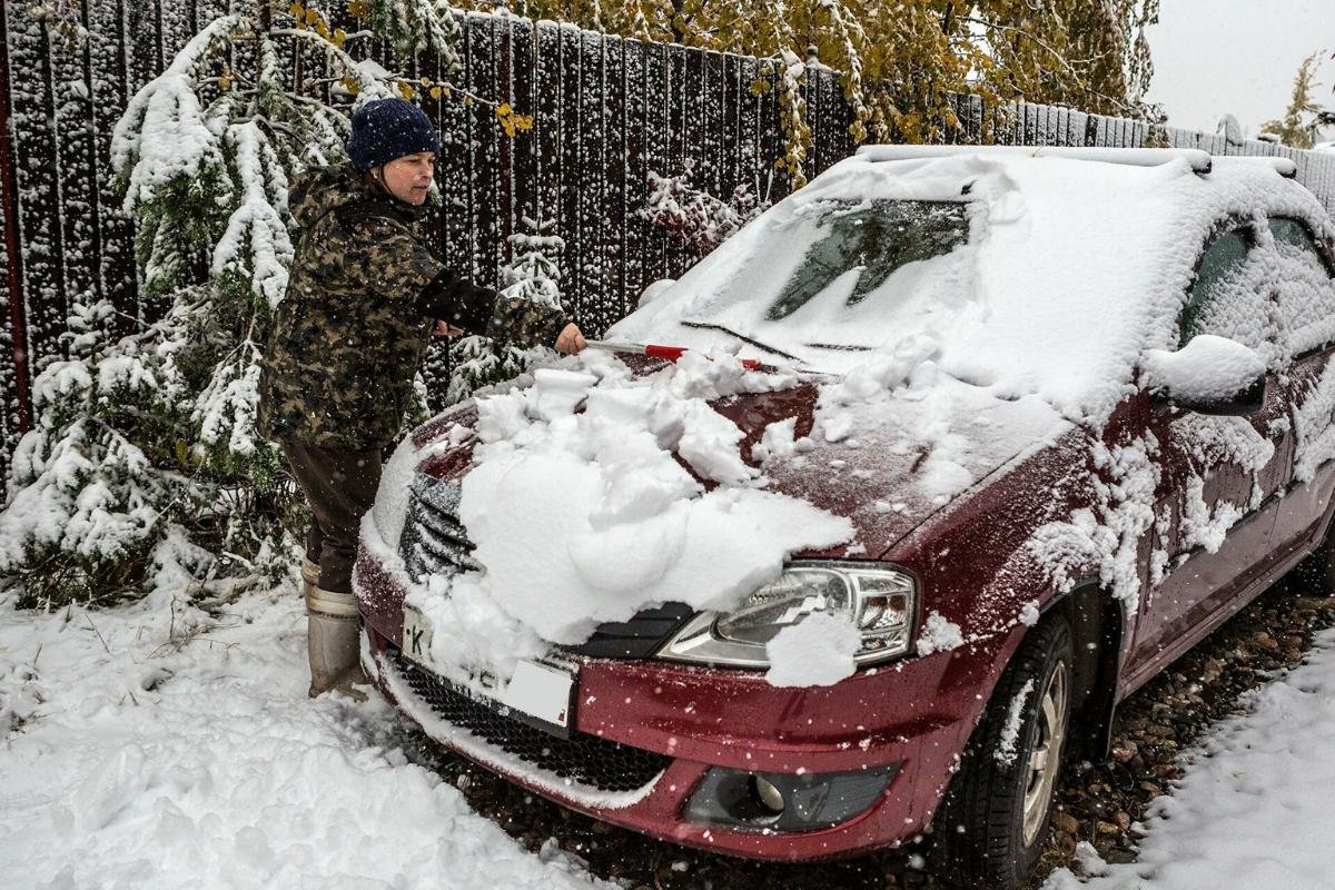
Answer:
[(1210, 627), (1210, 616), (1260, 571), (1288, 484), (1292, 434), (1280, 384), (1280, 327), (1252, 223), (1235, 223), (1203, 250), (1179, 320), (1179, 346), (1212, 334), (1262, 355), (1264, 407), (1214, 416), (1155, 406), (1160, 480), (1128, 667), (1152, 673)]

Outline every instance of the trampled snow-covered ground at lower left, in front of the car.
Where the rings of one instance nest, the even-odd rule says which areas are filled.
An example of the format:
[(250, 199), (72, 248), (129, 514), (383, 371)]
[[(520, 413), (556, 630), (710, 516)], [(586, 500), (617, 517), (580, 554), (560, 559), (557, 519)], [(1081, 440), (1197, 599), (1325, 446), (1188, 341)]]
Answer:
[(598, 883), (409, 763), (379, 697), (307, 699), (295, 592), (216, 619), (171, 599), (0, 603), (0, 886)]

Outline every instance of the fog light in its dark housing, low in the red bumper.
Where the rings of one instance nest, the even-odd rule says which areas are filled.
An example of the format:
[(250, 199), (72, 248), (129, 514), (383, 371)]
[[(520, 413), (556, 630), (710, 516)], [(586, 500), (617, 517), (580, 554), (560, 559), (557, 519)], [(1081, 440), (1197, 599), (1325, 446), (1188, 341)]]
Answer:
[(865, 813), (885, 793), (898, 763), (850, 773), (705, 773), (684, 815), (742, 831), (813, 831)]

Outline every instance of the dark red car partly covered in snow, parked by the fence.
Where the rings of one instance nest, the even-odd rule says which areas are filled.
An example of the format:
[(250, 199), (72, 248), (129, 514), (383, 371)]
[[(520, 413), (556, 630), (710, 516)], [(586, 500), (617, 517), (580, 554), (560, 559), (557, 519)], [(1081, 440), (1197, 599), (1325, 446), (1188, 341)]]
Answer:
[[(463, 406), (414, 434), (455, 444), (406, 518), (364, 524), (368, 673), (445, 746), (598, 819), (777, 861), (932, 829), (973, 886), (1020, 886), (1063, 758), (1105, 757), (1119, 701), (1330, 560), (1335, 230), (1292, 172), (1172, 149), (841, 161), (613, 335), (810, 371), (712, 404), (769, 490), (853, 539), (733, 611), (663, 602), (553, 647), (523, 694), (461, 690), (414, 656), (403, 598), (470, 568)], [(801, 447), (777, 458), (785, 422)], [(766, 644), (820, 611), (858, 628), (856, 670), (770, 683)]]

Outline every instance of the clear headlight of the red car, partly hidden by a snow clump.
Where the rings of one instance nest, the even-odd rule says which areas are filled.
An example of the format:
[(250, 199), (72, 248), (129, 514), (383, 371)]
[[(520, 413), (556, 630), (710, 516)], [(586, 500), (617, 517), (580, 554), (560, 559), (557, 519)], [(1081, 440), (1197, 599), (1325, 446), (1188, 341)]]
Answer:
[(769, 667), (765, 644), (814, 612), (853, 622), (862, 644), (857, 663), (902, 655), (917, 610), (913, 578), (881, 563), (794, 562), (734, 611), (700, 612), (658, 658), (734, 667)]

